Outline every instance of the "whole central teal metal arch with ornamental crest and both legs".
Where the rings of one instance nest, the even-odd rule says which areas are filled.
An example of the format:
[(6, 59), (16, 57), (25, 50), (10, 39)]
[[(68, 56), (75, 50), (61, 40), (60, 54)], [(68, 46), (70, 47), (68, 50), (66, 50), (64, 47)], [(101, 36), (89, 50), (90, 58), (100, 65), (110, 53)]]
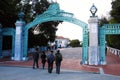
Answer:
[[(56, 8), (57, 7), (57, 8)], [(54, 9), (55, 8), (55, 9)], [(24, 28), (24, 45), (23, 45), (23, 57), (27, 56), (27, 46), (28, 46), (28, 30), (37, 24), (41, 24), (48, 21), (67, 21), (73, 24), (76, 24), (83, 28), (83, 59), (82, 62), (85, 63), (88, 61), (88, 25), (85, 22), (82, 22), (73, 17), (72, 13), (64, 12), (59, 9), (57, 3), (50, 5), (47, 11), (43, 14), (38, 15), (33, 22), (29, 23)]]

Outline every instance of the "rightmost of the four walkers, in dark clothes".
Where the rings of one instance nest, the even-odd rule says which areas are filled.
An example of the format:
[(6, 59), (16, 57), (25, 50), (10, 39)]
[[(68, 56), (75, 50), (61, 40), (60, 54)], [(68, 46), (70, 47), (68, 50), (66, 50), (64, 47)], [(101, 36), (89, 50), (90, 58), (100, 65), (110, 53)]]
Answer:
[(62, 61), (62, 54), (60, 53), (60, 50), (57, 50), (57, 53), (55, 54), (56, 73), (57, 74), (60, 74), (61, 61)]

